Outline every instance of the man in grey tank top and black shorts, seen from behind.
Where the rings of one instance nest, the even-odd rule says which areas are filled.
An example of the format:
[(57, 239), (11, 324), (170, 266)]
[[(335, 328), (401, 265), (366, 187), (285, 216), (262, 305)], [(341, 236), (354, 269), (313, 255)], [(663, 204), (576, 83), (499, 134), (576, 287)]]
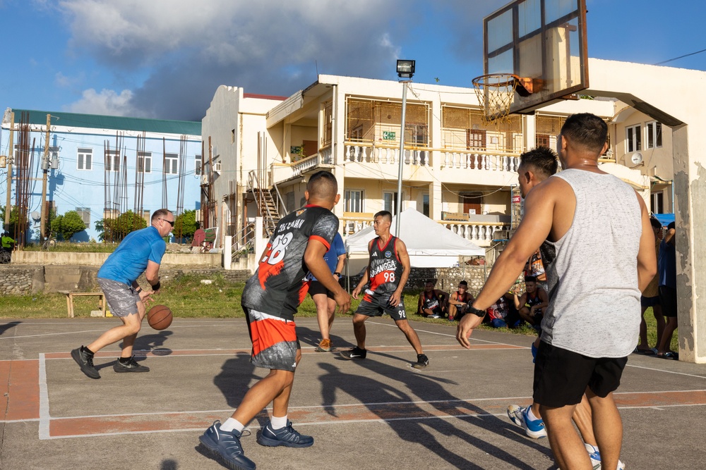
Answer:
[(470, 347), (480, 312), (508, 290), (544, 240), (554, 245), (533, 398), (561, 469), (591, 468), (571, 422), (584, 392), (603, 468), (618, 466), (623, 428), (613, 392), (638, 342), (640, 292), (657, 272), (645, 202), (598, 168), (607, 133), (604, 120), (589, 113), (566, 120), (558, 138), (564, 171), (527, 195), (525, 216), (469, 307), (477, 316), (465, 316), (456, 334)]

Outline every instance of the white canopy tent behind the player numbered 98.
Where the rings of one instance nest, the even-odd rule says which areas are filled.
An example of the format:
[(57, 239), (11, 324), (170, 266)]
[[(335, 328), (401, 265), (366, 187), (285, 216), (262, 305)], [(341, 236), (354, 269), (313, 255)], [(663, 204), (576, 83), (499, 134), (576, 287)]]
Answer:
[[(429, 217), (409, 208), (400, 214), (400, 238), (407, 245), (409, 259), (415, 268), (450, 268), (456, 266), (459, 256), (484, 256), (485, 250), (464, 237), (456, 235)], [(390, 225), (395, 235), (396, 217)], [(347, 237), (345, 245), (349, 254), (368, 253), (368, 243), (375, 238), (375, 230), (366, 227)]]

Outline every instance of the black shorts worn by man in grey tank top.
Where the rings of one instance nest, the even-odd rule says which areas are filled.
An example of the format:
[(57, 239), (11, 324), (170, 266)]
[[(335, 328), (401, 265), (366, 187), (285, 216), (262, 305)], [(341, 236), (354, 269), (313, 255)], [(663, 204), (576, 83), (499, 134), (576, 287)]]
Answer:
[(539, 342), (534, 362), (534, 402), (545, 407), (578, 404), (590, 388), (605, 398), (618, 389), (627, 357), (587, 357)]

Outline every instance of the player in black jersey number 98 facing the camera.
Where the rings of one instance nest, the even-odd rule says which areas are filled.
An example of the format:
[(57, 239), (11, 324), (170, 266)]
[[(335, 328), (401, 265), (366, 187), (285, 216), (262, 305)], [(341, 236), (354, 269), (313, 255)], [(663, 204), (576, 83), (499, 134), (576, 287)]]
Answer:
[(357, 299), (363, 286), (370, 280), (363, 301), (353, 316), (353, 332), (357, 346), (341, 352), (341, 356), (346, 359), (365, 359), (365, 321), (371, 316), (388, 314), (417, 352), (417, 362), (412, 364), (412, 367), (421, 369), (429, 365), (429, 358), (421, 349), (417, 332), (407, 321), (402, 297), (402, 289), (409, 278), (409, 254), (405, 242), (390, 233), (392, 221), (393, 216), (388, 211), (380, 211), (373, 218), (373, 228), (378, 236), (368, 244), (368, 267), (352, 294), (353, 298)]

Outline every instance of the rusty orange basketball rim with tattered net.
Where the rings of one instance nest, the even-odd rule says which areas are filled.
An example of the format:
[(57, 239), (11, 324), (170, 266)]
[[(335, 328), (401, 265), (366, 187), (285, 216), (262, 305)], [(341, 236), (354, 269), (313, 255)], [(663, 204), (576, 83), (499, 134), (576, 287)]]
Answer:
[(473, 88), (483, 109), (483, 123), (493, 123), (496, 126), (509, 123), (510, 105), (515, 99), (515, 92), (521, 96), (529, 96), (532, 93), (531, 87), (532, 79), (521, 78), (512, 73), (489, 73), (474, 78)]

